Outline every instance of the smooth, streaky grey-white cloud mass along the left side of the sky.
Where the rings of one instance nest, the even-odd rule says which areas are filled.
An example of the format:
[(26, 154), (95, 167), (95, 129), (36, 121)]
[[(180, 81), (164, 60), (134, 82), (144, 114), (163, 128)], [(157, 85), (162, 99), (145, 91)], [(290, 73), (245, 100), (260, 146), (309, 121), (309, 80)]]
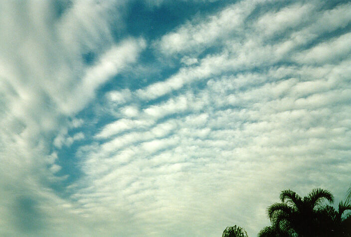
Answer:
[[(61, 10), (56, 3), (62, 3)], [(89, 220), (74, 214), (79, 213), (72, 208), (75, 204), (52, 188), (75, 175), (62, 175), (66, 168), (55, 150), (87, 138), (77, 131), (84, 121), (75, 118), (76, 113), (102, 83), (137, 60), (146, 42), (113, 39), (109, 25), (119, 15), (109, 12), (113, 2), (2, 5), (1, 235), (91, 233), (84, 227)], [(81, 58), (87, 51), (97, 55), (89, 65)], [(69, 225), (67, 220), (75, 223)], [(62, 233), (64, 229), (67, 233)]]

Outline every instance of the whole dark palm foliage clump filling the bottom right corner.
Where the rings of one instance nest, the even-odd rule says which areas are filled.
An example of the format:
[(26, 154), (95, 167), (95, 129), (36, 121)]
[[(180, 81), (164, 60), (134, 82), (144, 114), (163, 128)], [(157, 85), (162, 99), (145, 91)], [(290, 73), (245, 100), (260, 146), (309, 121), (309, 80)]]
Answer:
[(325, 200), (334, 202), (328, 190), (313, 189), (304, 198), (284, 190), (280, 200), (281, 203), (268, 207), (272, 226), (261, 230), (259, 237), (351, 237), (351, 215), (343, 217), (345, 211), (351, 210), (351, 205), (340, 202), (338, 211), (322, 205)]

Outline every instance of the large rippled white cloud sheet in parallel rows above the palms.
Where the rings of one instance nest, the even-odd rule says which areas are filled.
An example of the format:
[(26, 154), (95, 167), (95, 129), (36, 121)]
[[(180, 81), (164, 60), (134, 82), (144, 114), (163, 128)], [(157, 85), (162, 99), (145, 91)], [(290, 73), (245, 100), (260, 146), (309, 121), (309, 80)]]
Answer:
[[(165, 213), (171, 212), (179, 214), (179, 221), (167, 221), (168, 233), (179, 233), (179, 227), (197, 233), (200, 223), (208, 223), (207, 233), (220, 233), (233, 224), (257, 233), (268, 225), (265, 208), (280, 190), (291, 187), (306, 193), (315, 186), (335, 187), (328, 180), (334, 179), (333, 170), (349, 154), (344, 150), (348, 119), (343, 117), (347, 114), (343, 111), (349, 110), (345, 76), (349, 60), (326, 53), (319, 56), (316, 64), (309, 63), (313, 61), (309, 55), (315, 55), (314, 48), (320, 46), (316, 40), (319, 35), (332, 32), (318, 29), (318, 22), (341, 8), (320, 11), (315, 5), (296, 3), (267, 10), (253, 17), (256, 23), (248, 26), (245, 20), (254, 7), (246, 8), (245, 2), (229, 5), (213, 17), (190, 21), (163, 36), (160, 50), (166, 56), (181, 54), (179, 62), (185, 65), (167, 79), (121, 97), (127, 105), (139, 101), (141, 113), (133, 119), (148, 118), (154, 122), (116, 134), (114, 140), (101, 145), (108, 153), (100, 153), (96, 159), (95, 151), (101, 149), (93, 148), (94, 152), (88, 153), (81, 164), (94, 180), (101, 180), (91, 190), (110, 197), (112, 203), (120, 200), (121, 206), (130, 208), (129, 212), (140, 210), (135, 217), (145, 228), (150, 225), (145, 217), (153, 217), (153, 223), (162, 226)], [(238, 25), (228, 29), (220, 22), (234, 9), (247, 13), (238, 16), (242, 17)], [(285, 14), (294, 17), (285, 19)], [(301, 19), (304, 15), (311, 17)], [(344, 22), (339, 22), (334, 29), (345, 27)], [(217, 31), (213, 30), (213, 36), (193, 39), (196, 34), (205, 35), (203, 29), (208, 30), (210, 24), (224, 33), (215, 34)], [(299, 38), (306, 29), (315, 35)], [(228, 32), (236, 32), (237, 37)], [(277, 32), (284, 36), (273, 41), (271, 37)], [(330, 51), (338, 55), (338, 45), (347, 47), (343, 40), (336, 43), (339, 38), (348, 38), (347, 33), (336, 38), (328, 36), (322, 45), (332, 47)], [(214, 53), (188, 56), (214, 44), (219, 47)], [(343, 52), (347, 55), (347, 50)], [(188, 58), (195, 63), (185, 63)], [(125, 105), (114, 106), (118, 110)], [(174, 124), (173, 129), (161, 129), (155, 125), (158, 121)], [(165, 133), (152, 135), (149, 131), (154, 131), (155, 126)], [(339, 139), (341, 134), (343, 139)], [(98, 173), (97, 166), (101, 168)], [(318, 175), (321, 170), (328, 178)], [(110, 183), (118, 187), (111, 189)], [(124, 192), (118, 193), (121, 190)], [(257, 204), (252, 190), (260, 190), (267, 197)], [(143, 207), (145, 203), (155, 208)], [(253, 203), (257, 209), (248, 208)], [(213, 217), (216, 223), (221, 220), (223, 228), (209, 221)], [(256, 224), (252, 224), (252, 218)], [(184, 224), (188, 220), (191, 227)]]

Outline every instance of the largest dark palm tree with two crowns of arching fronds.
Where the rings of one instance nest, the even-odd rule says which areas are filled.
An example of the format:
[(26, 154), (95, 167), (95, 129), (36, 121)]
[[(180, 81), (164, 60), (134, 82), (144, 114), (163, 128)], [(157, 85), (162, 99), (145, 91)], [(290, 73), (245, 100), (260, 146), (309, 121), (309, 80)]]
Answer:
[(282, 203), (275, 203), (267, 210), (272, 230), (283, 231), (288, 236), (324, 236), (317, 219), (321, 203), (324, 200), (334, 202), (334, 197), (328, 190), (313, 189), (304, 198), (291, 190), (283, 190), (280, 200)]

